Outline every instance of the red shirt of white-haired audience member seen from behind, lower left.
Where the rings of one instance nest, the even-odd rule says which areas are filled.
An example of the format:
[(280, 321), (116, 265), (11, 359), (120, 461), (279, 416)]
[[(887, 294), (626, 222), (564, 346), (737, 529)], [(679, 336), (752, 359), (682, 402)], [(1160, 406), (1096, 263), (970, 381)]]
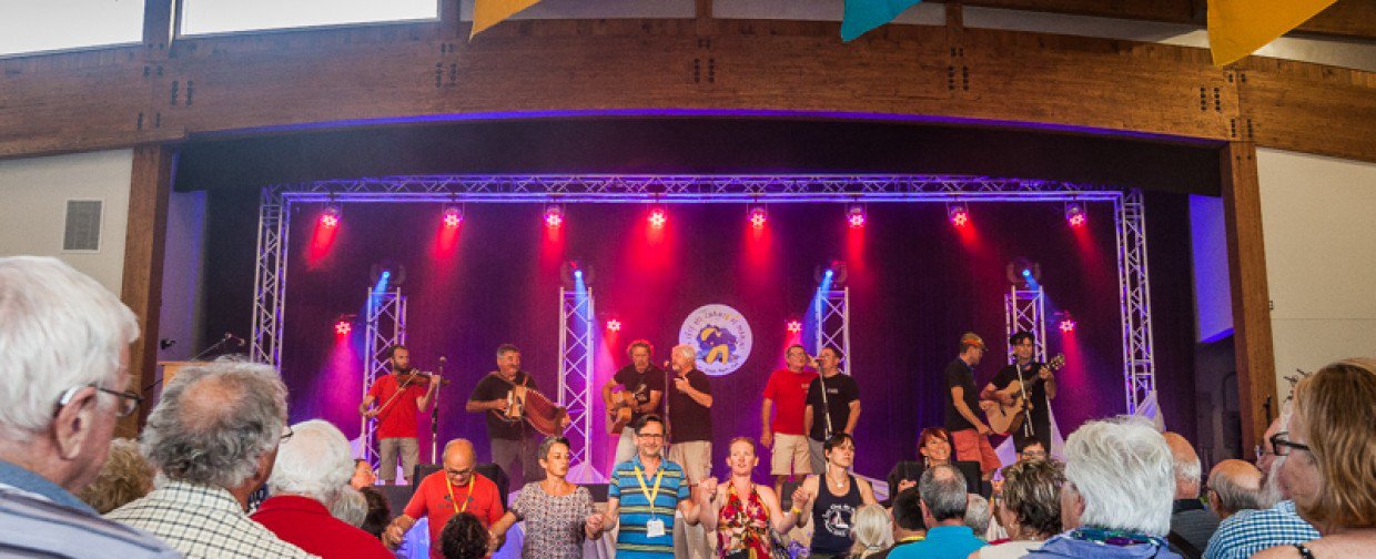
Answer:
[(314, 498), (270, 497), (250, 518), (283, 541), (325, 559), (394, 559), (373, 534), (330, 516), (330, 511)]

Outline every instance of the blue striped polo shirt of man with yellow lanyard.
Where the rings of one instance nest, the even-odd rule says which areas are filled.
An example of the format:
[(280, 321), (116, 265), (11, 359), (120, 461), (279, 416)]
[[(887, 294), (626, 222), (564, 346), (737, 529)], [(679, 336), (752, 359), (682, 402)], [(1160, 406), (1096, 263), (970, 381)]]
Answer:
[[(640, 476), (636, 476), (636, 468)], [(621, 531), (616, 534), (618, 558), (673, 558), (674, 556), (674, 512), (678, 501), (689, 498), (691, 486), (684, 475), (684, 468), (669, 460), (659, 460), (659, 470), (663, 478), (659, 481), (659, 493), (655, 494), (654, 507), (649, 496), (655, 492), (655, 476), (659, 472), (647, 472), (637, 453), (630, 460), (616, 464), (611, 472), (607, 486), (607, 497), (619, 500)], [(645, 487), (641, 489), (641, 479)], [(645, 534), (645, 525), (651, 518), (663, 520), (665, 536), (651, 538)]]

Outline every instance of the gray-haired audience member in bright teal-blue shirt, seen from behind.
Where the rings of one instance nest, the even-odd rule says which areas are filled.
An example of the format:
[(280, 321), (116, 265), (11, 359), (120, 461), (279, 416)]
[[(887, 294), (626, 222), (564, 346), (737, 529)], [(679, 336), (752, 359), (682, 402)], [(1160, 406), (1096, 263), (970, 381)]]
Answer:
[(963, 559), (985, 545), (965, 525), (969, 504), (965, 475), (952, 465), (937, 465), (922, 472), (918, 494), (922, 497), (922, 519), (927, 536), (889, 552), (889, 558), (954, 558)]

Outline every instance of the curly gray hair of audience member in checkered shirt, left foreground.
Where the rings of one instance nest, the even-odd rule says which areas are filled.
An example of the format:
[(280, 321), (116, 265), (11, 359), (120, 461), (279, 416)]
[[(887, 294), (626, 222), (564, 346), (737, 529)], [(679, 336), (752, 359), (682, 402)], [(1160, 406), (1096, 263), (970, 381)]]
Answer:
[(286, 427), (286, 387), (268, 365), (184, 368), (143, 430), (143, 454), (172, 481), (235, 487), (252, 478)]

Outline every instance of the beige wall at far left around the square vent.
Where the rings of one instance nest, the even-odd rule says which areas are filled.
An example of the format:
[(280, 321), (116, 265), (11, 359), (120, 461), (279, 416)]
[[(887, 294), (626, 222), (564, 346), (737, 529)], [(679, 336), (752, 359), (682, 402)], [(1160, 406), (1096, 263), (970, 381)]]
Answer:
[[(132, 169), (132, 150), (0, 161), (0, 255), (56, 256), (120, 293)], [(69, 198), (105, 201), (99, 252), (62, 252)]]

